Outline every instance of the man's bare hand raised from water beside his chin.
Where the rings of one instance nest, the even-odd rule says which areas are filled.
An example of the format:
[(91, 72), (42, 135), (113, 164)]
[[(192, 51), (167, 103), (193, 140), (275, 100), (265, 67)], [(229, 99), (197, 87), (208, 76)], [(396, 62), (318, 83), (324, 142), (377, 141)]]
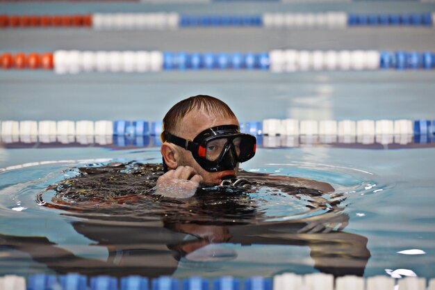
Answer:
[(190, 198), (195, 194), (202, 176), (190, 166), (179, 166), (157, 179), (156, 194), (166, 198)]

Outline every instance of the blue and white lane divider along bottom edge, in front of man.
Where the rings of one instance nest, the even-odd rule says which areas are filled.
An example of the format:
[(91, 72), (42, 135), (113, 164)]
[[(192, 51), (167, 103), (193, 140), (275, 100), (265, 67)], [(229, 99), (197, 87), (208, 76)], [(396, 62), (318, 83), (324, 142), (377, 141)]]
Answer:
[[(401, 270), (401, 271), (399, 271)], [(402, 277), (403, 274), (410, 275), (412, 271), (398, 269), (393, 271), (392, 277), (372, 276), (357, 277), (343, 276), (337, 277), (324, 273), (313, 273), (306, 275), (296, 275), (284, 273), (269, 277), (249, 277), (238, 279), (232, 276), (218, 277), (209, 280), (195, 276), (186, 279), (176, 279), (170, 276), (162, 276), (148, 279), (138, 275), (127, 277), (111, 277), (100, 275), (96, 277), (86, 277), (84, 275), (69, 273), (66, 275), (45, 275), (36, 274), (26, 278), (17, 275), (6, 275), (0, 277), (0, 287), (8, 290), (238, 290), (241, 287), (245, 290), (284, 290), (284, 289), (322, 289), (322, 290), (374, 290), (374, 289), (397, 289), (400, 290), (432, 290), (435, 287), (435, 279), (426, 280), (424, 277), (404, 277), (395, 280), (395, 277)], [(398, 275), (397, 273), (402, 273)], [(408, 273), (409, 272), (409, 273)], [(413, 273), (415, 275), (415, 273)], [(151, 282), (151, 283), (149, 283)], [(428, 287), (426, 288), (426, 284)]]

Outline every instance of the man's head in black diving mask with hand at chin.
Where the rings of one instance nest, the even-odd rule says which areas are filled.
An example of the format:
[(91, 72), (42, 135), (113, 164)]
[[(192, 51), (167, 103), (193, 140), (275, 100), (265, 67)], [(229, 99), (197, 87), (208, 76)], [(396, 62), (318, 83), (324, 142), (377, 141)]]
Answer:
[[(256, 138), (240, 133), (231, 108), (207, 95), (189, 97), (172, 106), (163, 118), (161, 139), (167, 171), (158, 178), (156, 193), (173, 198), (192, 196), (199, 184), (215, 186), (236, 178), (239, 163), (251, 159), (256, 150)], [(324, 193), (334, 191), (323, 182), (284, 178)]]

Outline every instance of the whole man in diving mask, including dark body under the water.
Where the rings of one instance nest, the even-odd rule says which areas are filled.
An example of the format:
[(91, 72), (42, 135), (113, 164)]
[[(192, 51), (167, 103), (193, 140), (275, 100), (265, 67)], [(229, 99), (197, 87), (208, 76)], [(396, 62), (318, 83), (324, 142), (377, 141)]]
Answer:
[[(297, 257), (292, 262), (293, 245), (306, 245), (318, 270), (336, 276), (363, 275), (370, 257), (367, 239), (342, 232), (349, 216), (338, 207), (343, 200), (340, 193), (336, 198), (322, 196), (334, 191), (324, 182), (238, 171), (240, 162), (254, 156), (255, 137), (240, 133), (236, 116), (222, 101), (209, 96), (185, 99), (167, 113), (164, 129), (164, 166), (114, 162), (82, 167), (80, 175), (47, 188), (56, 191), (48, 195), (51, 202), (44, 200), (44, 193), (38, 195), (39, 204), (77, 217), (72, 227), (92, 240), (77, 248), (79, 255), (45, 236), (0, 234), (0, 245), (13, 249), (11, 257), (25, 252), (38, 262), (36, 266), (45, 264), (58, 273), (147, 277), (172, 275), (179, 262), (181, 271), (195, 275), (216, 265), (226, 275), (231, 267), (240, 276), (294, 271), (295, 266), (307, 265), (306, 259), (300, 262)], [(230, 191), (216, 186), (236, 177), (247, 179), (252, 188), (240, 188), (237, 182), (231, 182)], [(251, 198), (250, 193), (260, 198)], [(288, 198), (280, 198), (281, 193)], [(269, 216), (270, 194), (275, 195), (272, 211), (273, 204), (285, 200), (284, 207), (304, 204), (297, 210), (302, 217), (293, 211), (288, 212), (292, 218)], [(258, 251), (256, 245), (279, 248)], [(95, 256), (81, 255), (96, 248), (100, 250)], [(107, 249), (106, 259), (99, 256), (102, 248)], [(255, 254), (249, 257), (250, 266), (240, 269), (244, 255), (231, 262), (238, 251), (246, 255), (251, 250)], [(265, 260), (273, 263), (265, 268)], [(19, 269), (22, 255), (15, 261)], [(217, 268), (213, 271), (220, 273)]]

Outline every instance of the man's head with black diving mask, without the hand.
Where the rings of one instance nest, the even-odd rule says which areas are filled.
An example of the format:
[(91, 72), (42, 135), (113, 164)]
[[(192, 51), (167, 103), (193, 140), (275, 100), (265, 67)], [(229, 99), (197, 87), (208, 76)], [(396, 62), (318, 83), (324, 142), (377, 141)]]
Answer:
[[(224, 177), (236, 176), (237, 173), (238, 161), (232, 163), (230, 161), (231, 159), (234, 160), (233, 155), (239, 154), (237, 150), (240, 150), (237, 144), (238, 139), (231, 138), (232, 135), (238, 134), (238, 126), (236, 115), (220, 99), (206, 95), (184, 99), (175, 104), (163, 119), (164, 131), (162, 133), (163, 145), (161, 147), (163, 162), (168, 169), (190, 166), (202, 176), (204, 184), (220, 184)], [(209, 130), (211, 128), (213, 130)], [(217, 137), (228, 136), (228, 138), (214, 140), (217, 143), (221, 140), (231, 141), (231, 144), (227, 143), (228, 154), (221, 154), (220, 156), (220, 161), (225, 165), (216, 166), (213, 169), (205, 164), (208, 161), (202, 162), (202, 157), (198, 156), (201, 155), (201, 149), (204, 148), (200, 148), (199, 154), (195, 151), (198, 150), (197, 140), (202, 138), (204, 138), (202, 140), (206, 140), (207, 136), (208, 138), (215, 138), (215, 136), (210, 136), (210, 132), (213, 133), (211, 135), (217, 134)], [(249, 139), (249, 137), (246, 138)], [(252, 140), (252, 138), (249, 140)], [(189, 140), (189, 148), (187, 148), (187, 145), (185, 146), (186, 140), (183, 139)], [(193, 143), (190, 142), (192, 140)], [(254, 143), (252, 146), (255, 146), (255, 138), (252, 142)], [(195, 150), (192, 147), (195, 147)], [(207, 147), (207, 154), (210, 148), (211, 146)], [(255, 150), (255, 148), (253, 149)], [(194, 153), (192, 154), (192, 152)], [(252, 156), (249, 156), (249, 158)]]

